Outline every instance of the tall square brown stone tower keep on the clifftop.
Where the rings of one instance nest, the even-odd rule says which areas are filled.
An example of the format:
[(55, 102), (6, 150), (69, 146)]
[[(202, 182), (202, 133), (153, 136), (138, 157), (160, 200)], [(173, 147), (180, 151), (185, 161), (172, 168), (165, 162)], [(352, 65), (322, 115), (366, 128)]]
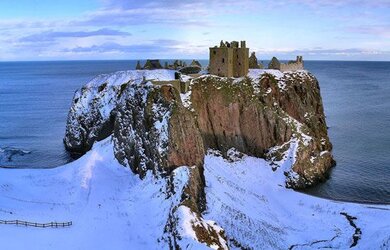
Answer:
[(231, 43), (221, 41), (220, 46), (210, 48), (209, 73), (223, 77), (241, 77), (248, 73), (249, 48), (245, 41)]

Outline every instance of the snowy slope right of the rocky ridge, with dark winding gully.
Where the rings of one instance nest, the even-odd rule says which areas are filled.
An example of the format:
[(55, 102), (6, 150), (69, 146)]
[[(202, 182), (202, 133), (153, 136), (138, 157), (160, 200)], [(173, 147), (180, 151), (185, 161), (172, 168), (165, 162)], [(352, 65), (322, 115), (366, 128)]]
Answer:
[[(205, 219), (225, 230), (231, 248), (390, 249), (390, 206), (352, 204), (285, 188), (294, 143), (273, 171), (269, 162), (244, 156), (205, 158)], [(237, 155), (237, 154), (236, 154)], [(352, 226), (347, 216), (356, 217)]]

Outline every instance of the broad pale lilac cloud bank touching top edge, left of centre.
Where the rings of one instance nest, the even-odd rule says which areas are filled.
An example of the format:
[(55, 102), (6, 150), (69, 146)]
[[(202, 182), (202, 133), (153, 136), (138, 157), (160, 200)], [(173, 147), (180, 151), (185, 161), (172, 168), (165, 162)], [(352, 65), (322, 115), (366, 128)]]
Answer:
[(75, 21), (77, 25), (170, 25), (177, 28), (183, 26), (214, 26), (210, 18), (226, 14), (250, 10), (258, 5), (254, 0), (144, 0), (122, 1), (106, 0), (104, 7), (90, 13), (83, 20)]

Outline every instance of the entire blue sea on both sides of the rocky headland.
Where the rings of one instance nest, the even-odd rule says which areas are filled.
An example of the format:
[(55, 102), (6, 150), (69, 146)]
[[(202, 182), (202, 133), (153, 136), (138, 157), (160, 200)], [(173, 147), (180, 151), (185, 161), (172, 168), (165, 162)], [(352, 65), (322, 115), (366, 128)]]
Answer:
[[(53, 168), (72, 161), (62, 140), (74, 92), (98, 74), (136, 63), (0, 62), (0, 167)], [(305, 192), (390, 204), (390, 62), (305, 61), (305, 68), (319, 80), (337, 162), (328, 181)]]

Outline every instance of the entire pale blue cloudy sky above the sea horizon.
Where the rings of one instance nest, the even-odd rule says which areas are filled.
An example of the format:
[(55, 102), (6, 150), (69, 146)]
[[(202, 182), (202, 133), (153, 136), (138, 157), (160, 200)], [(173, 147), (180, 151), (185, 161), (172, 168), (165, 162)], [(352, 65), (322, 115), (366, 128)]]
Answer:
[(1, 0), (0, 61), (207, 59), (246, 40), (260, 59), (390, 61), (390, 0)]

